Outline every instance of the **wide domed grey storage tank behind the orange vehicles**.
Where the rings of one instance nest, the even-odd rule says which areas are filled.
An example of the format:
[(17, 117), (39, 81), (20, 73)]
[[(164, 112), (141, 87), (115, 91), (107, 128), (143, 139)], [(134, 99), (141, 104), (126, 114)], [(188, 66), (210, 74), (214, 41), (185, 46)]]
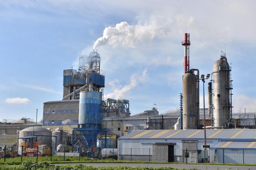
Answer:
[[(52, 132), (43, 128), (43, 127), (37, 127), (37, 126), (27, 127), (23, 130), (20, 130), (20, 133), (19, 133), (19, 137), (32, 137), (32, 136), (35, 136), (35, 135), (47, 135), (47, 136), (42, 136), (38, 140), (38, 145), (47, 144), (47, 145), (51, 146), (51, 144), (52, 144), (52, 140), (51, 140), (52, 139), (52, 137), (51, 137)], [(25, 140), (19, 139), (18, 154), (21, 154), (20, 144), (22, 142), (25, 142)], [(28, 146), (28, 147), (31, 147), (31, 146)], [(26, 148), (24, 148), (24, 149), (26, 149)]]

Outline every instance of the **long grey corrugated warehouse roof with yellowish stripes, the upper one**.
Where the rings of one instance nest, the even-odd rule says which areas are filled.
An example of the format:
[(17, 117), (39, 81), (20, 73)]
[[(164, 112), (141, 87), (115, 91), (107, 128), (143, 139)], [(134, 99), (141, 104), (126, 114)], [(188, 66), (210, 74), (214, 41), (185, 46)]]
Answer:
[[(147, 133), (145, 133), (147, 132)], [(140, 135), (141, 134), (141, 135)], [(210, 139), (256, 139), (255, 129), (207, 129)], [(204, 130), (136, 130), (119, 139), (204, 139)]]

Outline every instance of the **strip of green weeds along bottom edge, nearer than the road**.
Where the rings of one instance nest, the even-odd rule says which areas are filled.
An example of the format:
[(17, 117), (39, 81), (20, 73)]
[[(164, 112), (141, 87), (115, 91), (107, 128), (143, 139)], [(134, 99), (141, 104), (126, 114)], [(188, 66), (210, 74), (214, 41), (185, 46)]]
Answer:
[[(84, 165), (76, 166), (56, 166), (53, 164), (43, 163), (23, 163), (19, 166), (0, 165), (0, 170), (178, 170), (173, 167), (92, 167)], [(195, 170), (195, 169), (194, 169)]]

